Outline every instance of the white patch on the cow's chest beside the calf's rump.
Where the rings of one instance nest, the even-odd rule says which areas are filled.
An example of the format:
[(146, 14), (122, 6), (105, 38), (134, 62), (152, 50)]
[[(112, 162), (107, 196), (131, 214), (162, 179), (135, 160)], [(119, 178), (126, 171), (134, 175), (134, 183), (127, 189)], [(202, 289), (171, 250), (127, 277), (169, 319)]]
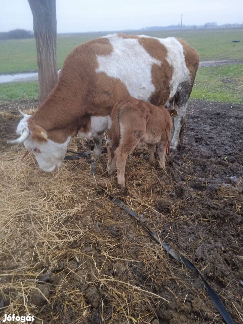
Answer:
[(90, 129), (88, 132), (78, 132), (79, 137), (90, 138), (97, 137), (101, 133), (104, 133), (107, 129), (111, 127), (110, 115), (107, 116), (91, 116)]

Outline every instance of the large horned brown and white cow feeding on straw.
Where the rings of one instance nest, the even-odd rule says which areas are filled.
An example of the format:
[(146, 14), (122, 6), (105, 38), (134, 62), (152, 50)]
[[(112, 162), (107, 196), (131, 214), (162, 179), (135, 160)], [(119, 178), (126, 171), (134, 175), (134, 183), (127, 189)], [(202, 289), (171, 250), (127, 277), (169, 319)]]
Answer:
[(75, 134), (94, 138), (97, 159), (112, 108), (132, 96), (156, 106), (175, 101), (175, 150), (198, 64), (198, 53), (174, 37), (114, 34), (88, 41), (67, 56), (56, 86), (33, 116), (24, 115), (11, 143), (24, 143), (48, 172), (61, 166)]

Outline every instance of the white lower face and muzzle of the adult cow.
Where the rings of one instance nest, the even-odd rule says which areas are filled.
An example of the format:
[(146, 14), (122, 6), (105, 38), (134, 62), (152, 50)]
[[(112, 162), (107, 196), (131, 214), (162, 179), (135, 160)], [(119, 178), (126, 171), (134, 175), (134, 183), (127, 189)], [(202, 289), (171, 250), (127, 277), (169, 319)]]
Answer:
[(52, 172), (55, 168), (61, 167), (70, 139), (71, 136), (68, 136), (66, 142), (61, 144), (50, 139), (47, 142), (38, 143), (29, 136), (24, 141), (24, 145), (30, 152), (33, 152), (35, 148), (39, 149), (40, 153), (33, 152), (39, 167), (45, 172)]

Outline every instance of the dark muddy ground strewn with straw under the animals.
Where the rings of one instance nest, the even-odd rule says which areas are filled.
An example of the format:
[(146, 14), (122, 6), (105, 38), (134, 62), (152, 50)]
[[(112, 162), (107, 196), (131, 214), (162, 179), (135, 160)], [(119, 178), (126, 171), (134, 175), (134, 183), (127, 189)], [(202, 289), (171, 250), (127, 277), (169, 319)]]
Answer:
[[(178, 152), (167, 157), (168, 174), (149, 165), (143, 147), (127, 160), (128, 192), (119, 191), (116, 178), (106, 175), (104, 140), (95, 175), (88, 159), (65, 162), (55, 174), (59, 182), (67, 179), (62, 193), (58, 182), (50, 184), (53, 176), (43, 175), (31, 157), (27, 162), (7, 161), (24, 153), (22, 147), (9, 148), (4, 142), (14, 136), (18, 105), (3, 108), (10, 114), (0, 125), (0, 148), (2, 174), (15, 167), (6, 179), (19, 179), (14, 185), (5, 181), (1, 188), (8, 192), (4, 199), (12, 204), (18, 183), (28, 194), (34, 190), (39, 201), (33, 196), (25, 200), (23, 212), (19, 207), (14, 216), (9, 205), (6, 213), (11, 217), (3, 216), (3, 313), (26, 314), (28, 309), (37, 323), (224, 323), (198, 275), (171, 259), (139, 224), (112, 204), (104, 193), (108, 191), (143, 214), (161, 241), (191, 259), (234, 323), (242, 323), (242, 106), (190, 102), (184, 139)], [(92, 140), (71, 143), (75, 150), (92, 148)], [(21, 178), (16, 170), (26, 176)], [(55, 201), (61, 196), (61, 202)], [(53, 210), (45, 212), (50, 200)], [(24, 210), (26, 205), (30, 207)], [(12, 217), (19, 224), (14, 237), (7, 236)]]

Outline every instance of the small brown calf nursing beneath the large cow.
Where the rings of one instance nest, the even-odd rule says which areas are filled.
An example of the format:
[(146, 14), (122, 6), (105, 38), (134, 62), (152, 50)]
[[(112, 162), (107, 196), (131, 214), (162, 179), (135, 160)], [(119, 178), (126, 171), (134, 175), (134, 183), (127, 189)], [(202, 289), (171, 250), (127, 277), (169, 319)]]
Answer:
[(125, 187), (126, 159), (139, 142), (148, 146), (149, 162), (155, 161), (158, 145), (159, 166), (165, 168), (166, 146), (172, 128), (171, 114), (164, 106), (154, 106), (133, 97), (119, 101), (111, 112), (111, 142), (108, 146), (109, 174), (117, 169), (119, 187)]

